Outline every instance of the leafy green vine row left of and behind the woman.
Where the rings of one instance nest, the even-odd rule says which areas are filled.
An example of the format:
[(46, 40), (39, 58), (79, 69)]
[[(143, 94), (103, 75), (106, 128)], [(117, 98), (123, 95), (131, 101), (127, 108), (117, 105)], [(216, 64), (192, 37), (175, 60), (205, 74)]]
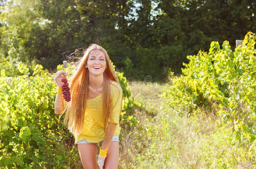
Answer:
[[(74, 168), (81, 165), (78, 152), (73, 151), (73, 135), (63, 125), (63, 116), (54, 113), (57, 94), (54, 75), (34, 63), (27, 67), (19, 62), (14, 71), (10, 63), (6, 61), (0, 70), (0, 167)], [(123, 73), (117, 74), (124, 90), (123, 107), (127, 108), (131, 91)], [(124, 113), (122, 119), (125, 119), (123, 117), (126, 117)], [(133, 122), (131, 118), (126, 119), (124, 122)]]

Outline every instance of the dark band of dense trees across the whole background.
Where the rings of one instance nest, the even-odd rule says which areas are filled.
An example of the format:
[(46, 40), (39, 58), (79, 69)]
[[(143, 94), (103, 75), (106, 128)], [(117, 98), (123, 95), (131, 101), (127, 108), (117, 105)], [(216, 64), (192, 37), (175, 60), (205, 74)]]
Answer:
[(211, 41), (256, 31), (253, 0), (2, 0), (0, 56), (55, 68), (76, 48), (102, 45), (129, 78), (181, 73)]

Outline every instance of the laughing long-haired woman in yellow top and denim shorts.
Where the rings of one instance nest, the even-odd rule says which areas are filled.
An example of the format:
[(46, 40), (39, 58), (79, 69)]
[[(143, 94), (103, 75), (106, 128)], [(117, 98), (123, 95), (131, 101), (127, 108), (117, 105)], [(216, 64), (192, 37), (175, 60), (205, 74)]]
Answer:
[[(92, 44), (74, 64), (70, 82), (71, 101), (62, 98), (65, 71), (57, 71), (58, 93), (55, 114), (65, 113), (64, 123), (75, 136), (85, 169), (117, 169), (119, 159), (119, 117), (123, 90), (106, 50)], [(100, 151), (96, 163), (97, 143)]]

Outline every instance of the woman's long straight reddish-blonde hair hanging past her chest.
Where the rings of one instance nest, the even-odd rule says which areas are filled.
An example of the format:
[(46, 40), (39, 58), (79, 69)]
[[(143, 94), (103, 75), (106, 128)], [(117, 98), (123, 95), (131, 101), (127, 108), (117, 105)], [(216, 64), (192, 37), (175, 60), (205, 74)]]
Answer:
[[(73, 73), (68, 79), (71, 101), (67, 103), (65, 109), (64, 124), (68, 126), (68, 129), (72, 134), (78, 135), (81, 133), (84, 127), (84, 114), (86, 109), (86, 100), (89, 85), (89, 70), (85, 67), (89, 53), (91, 50), (99, 49), (101, 50), (106, 58), (107, 65), (105, 71), (103, 72), (103, 122), (104, 122), (104, 132), (107, 129), (107, 121), (110, 117), (110, 79), (116, 81), (119, 85), (118, 76), (110, 62), (110, 58), (107, 51), (97, 44), (91, 44), (83, 52), (83, 57), (78, 57), (73, 66), (69, 68)], [(72, 55), (72, 54), (71, 54)], [(69, 73), (69, 72), (68, 72)], [(65, 111), (65, 110), (64, 110)]]

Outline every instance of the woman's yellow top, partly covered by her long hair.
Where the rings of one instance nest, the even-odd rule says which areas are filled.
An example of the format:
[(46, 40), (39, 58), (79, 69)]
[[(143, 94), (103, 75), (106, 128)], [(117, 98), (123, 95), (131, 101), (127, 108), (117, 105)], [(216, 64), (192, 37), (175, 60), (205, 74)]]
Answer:
[[(108, 123), (118, 124), (114, 135), (120, 134), (119, 117), (122, 111), (121, 103), (123, 97), (122, 87), (113, 81), (110, 84), (110, 117), (108, 118)], [(64, 107), (67, 102), (63, 99)], [(111, 118), (112, 117), (112, 118)], [(78, 141), (86, 139), (90, 143), (99, 143), (104, 140), (104, 124), (103, 124), (103, 93), (99, 96), (86, 101), (86, 111), (84, 114), (84, 129), (78, 136), (75, 136), (75, 144)]]

